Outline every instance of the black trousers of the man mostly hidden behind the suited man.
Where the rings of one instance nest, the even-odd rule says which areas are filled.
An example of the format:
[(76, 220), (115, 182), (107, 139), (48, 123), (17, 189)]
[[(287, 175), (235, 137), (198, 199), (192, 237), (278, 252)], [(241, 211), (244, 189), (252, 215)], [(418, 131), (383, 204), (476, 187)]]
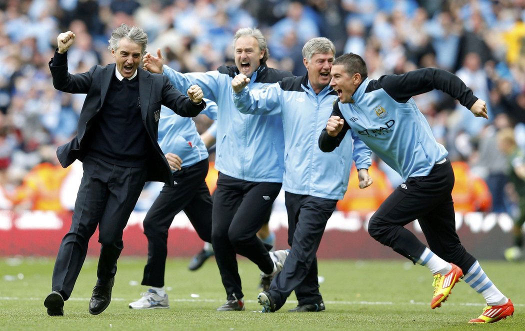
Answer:
[(212, 240), (212, 199), (206, 182), (208, 159), (175, 171), (175, 186), (164, 185), (144, 218), (144, 234), (148, 237), (148, 262), (144, 267), (142, 285), (164, 286), (167, 256), (167, 232), (173, 218), (184, 211), (198, 236)]

